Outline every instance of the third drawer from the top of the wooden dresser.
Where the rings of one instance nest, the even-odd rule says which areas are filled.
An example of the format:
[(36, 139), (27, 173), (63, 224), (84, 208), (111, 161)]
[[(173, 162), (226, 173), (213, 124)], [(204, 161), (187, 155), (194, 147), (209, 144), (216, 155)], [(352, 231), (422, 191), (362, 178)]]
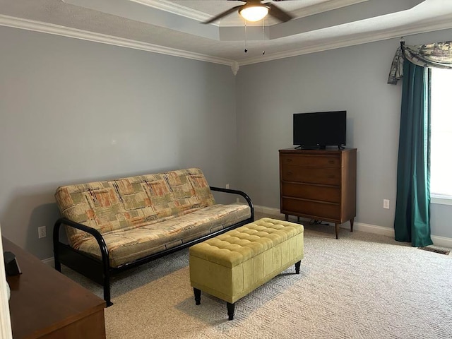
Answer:
[(292, 198), (340, 203), (340, 189), (331, 186), (314, 186), (309, 184), (282, 182), (281, 195)]

